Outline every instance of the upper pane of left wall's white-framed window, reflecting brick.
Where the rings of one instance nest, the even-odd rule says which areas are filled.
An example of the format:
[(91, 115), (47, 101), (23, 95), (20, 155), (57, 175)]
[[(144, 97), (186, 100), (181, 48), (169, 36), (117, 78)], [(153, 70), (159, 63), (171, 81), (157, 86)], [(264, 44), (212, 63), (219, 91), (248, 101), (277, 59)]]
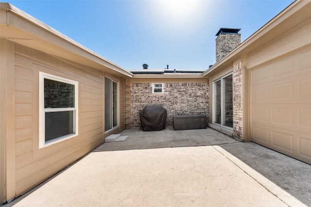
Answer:
[(44, 79), (44, 108), (74, 108), (74, 85)]

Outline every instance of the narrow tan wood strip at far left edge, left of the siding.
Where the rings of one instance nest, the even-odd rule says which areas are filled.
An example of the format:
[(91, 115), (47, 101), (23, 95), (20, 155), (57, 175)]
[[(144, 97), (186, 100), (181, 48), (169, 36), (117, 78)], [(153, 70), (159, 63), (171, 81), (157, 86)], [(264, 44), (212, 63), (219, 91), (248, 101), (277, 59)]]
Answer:
[(15, 66), (14, 43), (0, 39), (0, 204), (15, 191)]

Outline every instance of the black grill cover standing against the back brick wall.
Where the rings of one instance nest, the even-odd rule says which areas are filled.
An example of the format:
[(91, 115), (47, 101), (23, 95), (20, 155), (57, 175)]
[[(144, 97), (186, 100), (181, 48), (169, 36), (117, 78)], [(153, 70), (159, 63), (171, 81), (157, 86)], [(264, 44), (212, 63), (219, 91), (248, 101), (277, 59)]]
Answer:
[(143, 131), (165, 129), (166, 109), (161, 106), (145, 106), (140, 112), (140, 124)]

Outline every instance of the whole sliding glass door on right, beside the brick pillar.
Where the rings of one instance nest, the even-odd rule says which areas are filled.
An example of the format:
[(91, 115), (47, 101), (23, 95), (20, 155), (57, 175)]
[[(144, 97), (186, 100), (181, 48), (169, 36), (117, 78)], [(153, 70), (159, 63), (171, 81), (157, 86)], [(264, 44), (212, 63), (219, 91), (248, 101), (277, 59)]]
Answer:
[(214, 82), (214, 123), (233, 127), (232, 74)]

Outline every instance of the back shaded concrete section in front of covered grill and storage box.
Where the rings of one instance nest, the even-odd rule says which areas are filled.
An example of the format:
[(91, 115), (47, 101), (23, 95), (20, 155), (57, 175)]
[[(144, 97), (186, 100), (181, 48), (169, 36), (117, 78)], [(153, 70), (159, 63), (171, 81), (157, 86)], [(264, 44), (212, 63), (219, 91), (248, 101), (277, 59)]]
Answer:
[(239, 143), (211, 128), (192, 130), (166, 128), (161, 131), (141, 131), (138, 128), (132, 128), (120, 134), (128, 136), (125, 142), (104, 143), (93, 152)]

